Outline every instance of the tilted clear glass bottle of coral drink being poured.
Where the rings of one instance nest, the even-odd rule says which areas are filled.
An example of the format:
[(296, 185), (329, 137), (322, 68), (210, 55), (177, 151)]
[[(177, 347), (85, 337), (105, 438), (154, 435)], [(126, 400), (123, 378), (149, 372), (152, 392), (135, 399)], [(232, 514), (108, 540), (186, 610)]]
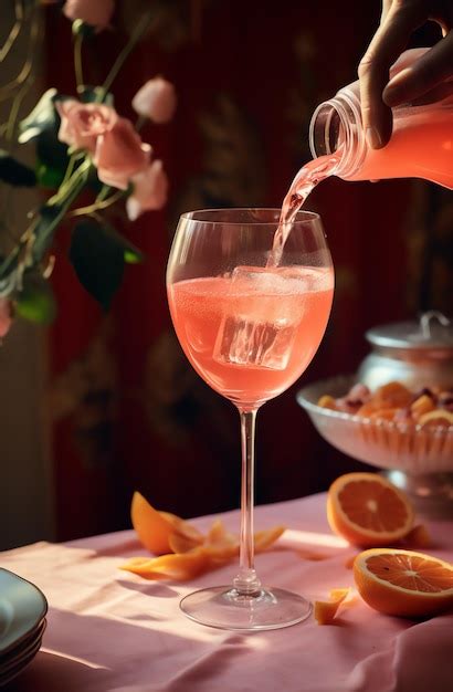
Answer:
[[(390, 75), (407, 67), (425, 50), (407, 51)], [(435, 101), (393, 108), (392, 136), (382, 149), (371, 149), (367, 144), (359, 83), (345, 86), (313, 114), (313, 156), (337, 153), (338, 165), (333, 175), (344, 180), (424, 178), (453, 189), (453, 88), (450, 83), (445, 86), (436, 90)], [(445, 92), (450, 94), (444, 96)]]

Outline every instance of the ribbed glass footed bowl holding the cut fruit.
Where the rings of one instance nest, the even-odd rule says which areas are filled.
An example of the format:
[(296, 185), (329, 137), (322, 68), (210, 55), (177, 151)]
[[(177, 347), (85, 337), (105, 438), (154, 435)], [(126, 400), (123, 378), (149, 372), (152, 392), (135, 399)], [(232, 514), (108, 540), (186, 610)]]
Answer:
[(339, 376), (304, 387), (298, 403), (333, 447), (383, 469), (426, 515), (453, 515), (453, 427), (426, 428), (370, 420), (317, 406), (323, 395), (344, 396), (357, 376)]

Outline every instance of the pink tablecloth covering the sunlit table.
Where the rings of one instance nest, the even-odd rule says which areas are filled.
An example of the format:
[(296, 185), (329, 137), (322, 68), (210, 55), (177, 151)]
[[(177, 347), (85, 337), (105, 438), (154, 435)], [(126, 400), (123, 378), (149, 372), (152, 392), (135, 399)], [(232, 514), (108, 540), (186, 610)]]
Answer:
[[(223, 515), (238, 530), (238, 513)], [(197, 520), (207, 527), (211, 520)], [(355, 551), (328, 530), (325, 495), (257, 507), (256, 528), (291, 531), (259, 555), (266, 585), (326, 598), (352, 586)], [(430, 551), (453, 559), (453, 524), (431, 524)], [(453, 615), (424, 622), (375, 612), (357, 597), (331, 626), (313, 618), (254, 635), (187, 620), (178, 608), (193, 588), (228, 584), (235, 565), (175, 585), (119, 572), (145, 554), (133, 532), (64, 545), (38, 543), (0, 555), (0, 566), (36, 584), (50, 604), (42, 651), (7, 690), (14, 692), (451, 692)], [(313, 559), (316, 554), (318, 558)], [(310, 559), (309, 559), (310, 558)]]

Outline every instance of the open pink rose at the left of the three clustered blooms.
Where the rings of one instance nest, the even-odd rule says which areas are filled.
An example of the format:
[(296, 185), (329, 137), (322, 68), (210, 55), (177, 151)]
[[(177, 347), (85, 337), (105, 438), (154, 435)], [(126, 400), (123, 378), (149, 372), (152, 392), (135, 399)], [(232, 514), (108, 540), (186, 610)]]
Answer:
[(61, 117), (60, 141), (75, 149), (87, 149), (94, 154), (99, 135), (110, 130), (118, 115), (110, 106), (95, 103), (81, 103), (75, 98), (60, 101), (56, 109)]

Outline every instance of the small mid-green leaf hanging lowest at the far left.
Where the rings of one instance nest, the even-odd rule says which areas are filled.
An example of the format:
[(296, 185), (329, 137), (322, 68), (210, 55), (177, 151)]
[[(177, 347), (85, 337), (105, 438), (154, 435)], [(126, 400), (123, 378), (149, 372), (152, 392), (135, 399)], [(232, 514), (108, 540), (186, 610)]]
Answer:
[(40, 274), (25, 273), (23, 286), (15, 297), (15, 312), (20, 317), (50, 324), (56, 315), (56, 302), (52, 286)]

